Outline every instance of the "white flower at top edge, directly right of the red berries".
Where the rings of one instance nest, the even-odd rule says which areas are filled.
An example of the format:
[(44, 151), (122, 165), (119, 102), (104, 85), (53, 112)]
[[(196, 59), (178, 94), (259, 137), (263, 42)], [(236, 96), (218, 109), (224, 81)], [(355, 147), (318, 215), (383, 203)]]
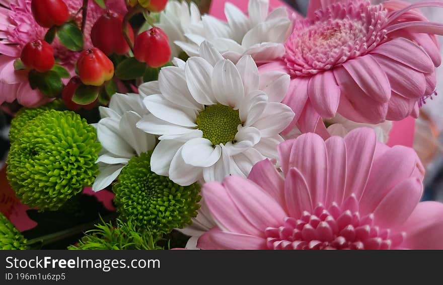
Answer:
[(186, 42), (185, 34), (199, 33), (201, 31), (201, 14), (194, 2), (168, 1), (166, 8), (160, 13), (157, 27), (165, 31), (171, 46), (171, 58), (179, 57), (183, 50), (175, 41)]

